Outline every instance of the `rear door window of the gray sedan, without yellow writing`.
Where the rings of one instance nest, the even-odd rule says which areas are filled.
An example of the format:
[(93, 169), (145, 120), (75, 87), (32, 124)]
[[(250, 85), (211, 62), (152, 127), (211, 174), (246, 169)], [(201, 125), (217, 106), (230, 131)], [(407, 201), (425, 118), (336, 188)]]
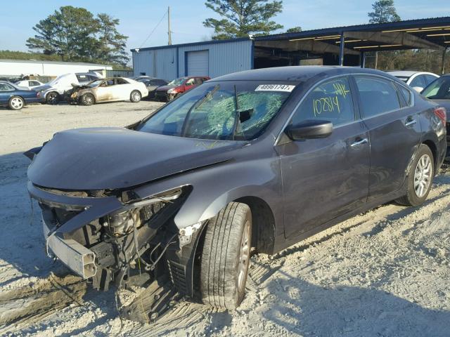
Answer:
[(399, 96), (391, 81), (375, 77), (356, 77), (355, 80), (364, 118), (400, 108)]

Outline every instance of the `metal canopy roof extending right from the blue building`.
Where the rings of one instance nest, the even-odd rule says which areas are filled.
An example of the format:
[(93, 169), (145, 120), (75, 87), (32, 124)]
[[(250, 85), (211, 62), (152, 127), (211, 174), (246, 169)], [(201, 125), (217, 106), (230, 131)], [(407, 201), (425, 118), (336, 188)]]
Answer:
[(314, 29), (255, 37), (255, 46), (340, 53), (450, 47), (450, 17)]

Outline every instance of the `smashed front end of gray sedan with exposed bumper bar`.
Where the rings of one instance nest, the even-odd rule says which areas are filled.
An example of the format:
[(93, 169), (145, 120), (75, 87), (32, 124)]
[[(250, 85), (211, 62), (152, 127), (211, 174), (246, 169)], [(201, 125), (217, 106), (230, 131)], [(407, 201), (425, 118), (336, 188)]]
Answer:
[(155, 292), (146, 309), (140, 306), (136, 314), (131, 304), (122, 310), (124, 317), (149, 322), (176, 296), (195, 297), (195, 250), (203, 223), (181, 230), (174, 223), (190, 185), (143, 198), (132, 190), (65, 191), (32, 182), (28, 190), (42, 210), (49, 256), (95, 289), (115, 284)]

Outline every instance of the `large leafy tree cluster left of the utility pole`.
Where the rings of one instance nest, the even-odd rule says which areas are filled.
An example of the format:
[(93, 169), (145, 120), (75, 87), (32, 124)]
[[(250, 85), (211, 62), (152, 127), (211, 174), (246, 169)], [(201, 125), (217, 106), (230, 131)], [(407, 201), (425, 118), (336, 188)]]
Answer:
[(126, 64), (127, 37), (117, 32), (117, 25), (119, 20), (107, 14), (94, 17), (86, 8), (63, 6), (33, 27), (37, 34), (26, 45), (65, 61)]

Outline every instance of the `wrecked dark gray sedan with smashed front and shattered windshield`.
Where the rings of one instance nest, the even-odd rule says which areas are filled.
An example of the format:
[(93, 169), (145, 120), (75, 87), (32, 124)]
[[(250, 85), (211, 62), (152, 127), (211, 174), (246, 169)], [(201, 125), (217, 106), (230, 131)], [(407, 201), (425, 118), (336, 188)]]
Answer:
[(273, 254), (387, 201), (422, 204), (444, 124), (384, 72), (250, 70), (127, 128), (56, 133), (27, 152), (28, 190), (49, 251), (96, 289), (150, 283), (150, 319), (174, 292), (233, 309), (252, 247)]

